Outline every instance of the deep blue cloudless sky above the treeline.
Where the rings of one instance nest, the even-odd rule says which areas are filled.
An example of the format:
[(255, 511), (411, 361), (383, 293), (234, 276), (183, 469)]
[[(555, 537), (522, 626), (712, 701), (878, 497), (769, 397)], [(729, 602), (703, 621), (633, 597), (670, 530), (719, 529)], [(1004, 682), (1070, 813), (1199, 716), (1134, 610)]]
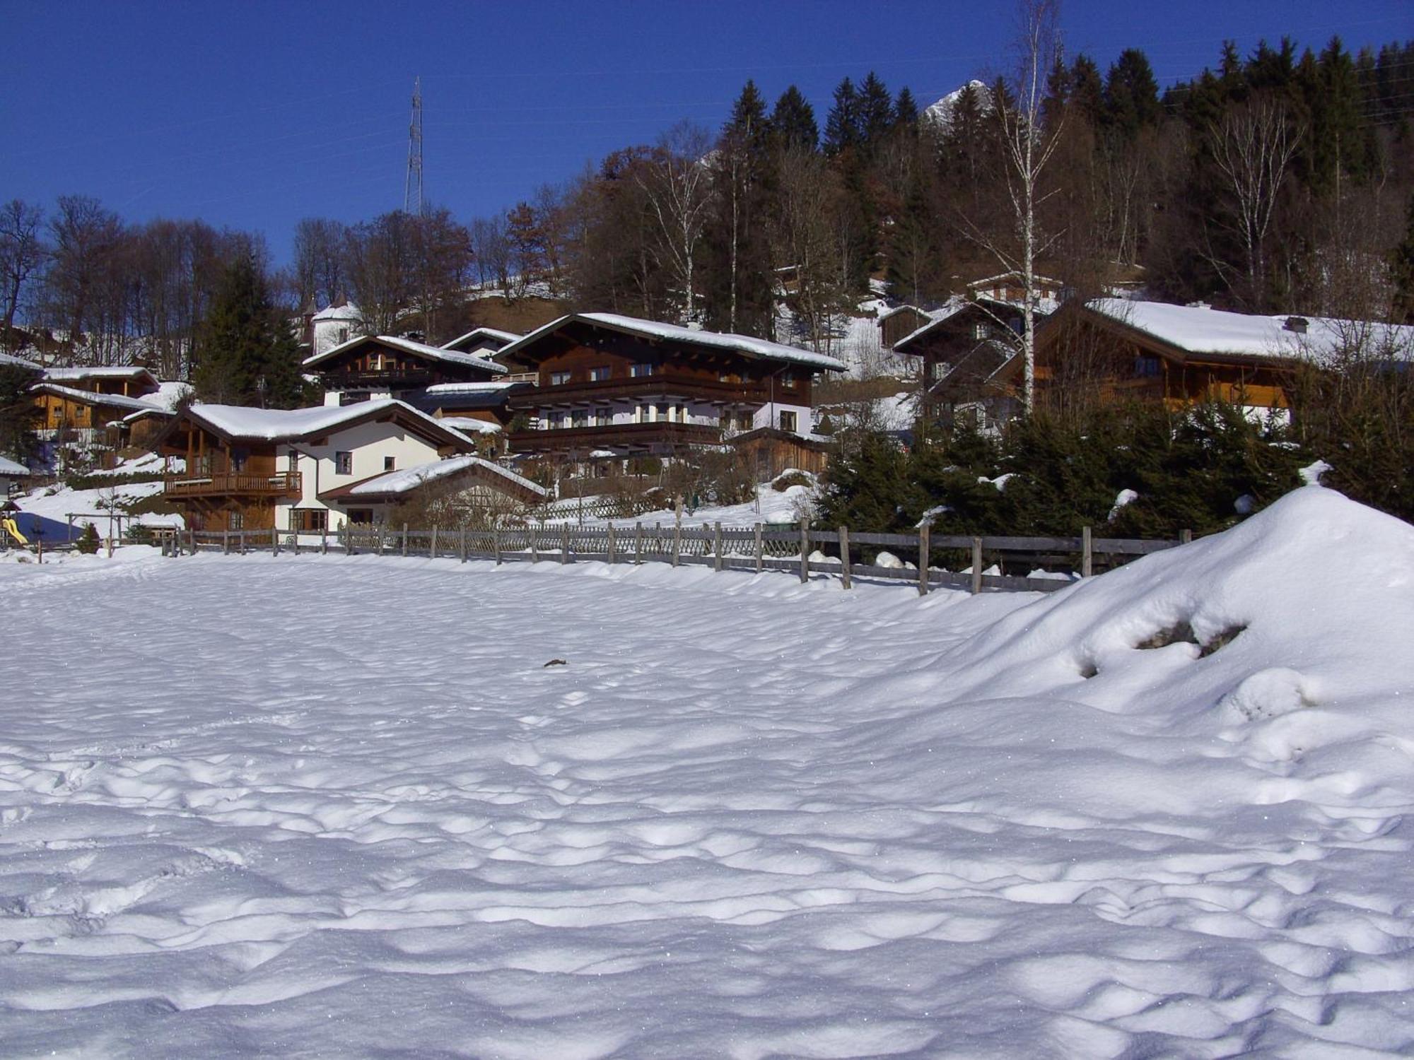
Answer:
[[(1001, 69), (1014, 6), (894, 3), (40, 3), (0, 0), (0, 199), (99, 196), (127, 219), (263, 230), (402, 205), (414, 75), (427, 196), (513, 205), (682, 117), (720, 127), (747, 78), (796, 83), (820, 124), (874, 69), (928, 105)], [(1414, 37), (1410, 0), (1171, 0), (1062, 8), (1068, 54), (1143, 48), (1161, 85), (1282, 34), (1352, 49)]]

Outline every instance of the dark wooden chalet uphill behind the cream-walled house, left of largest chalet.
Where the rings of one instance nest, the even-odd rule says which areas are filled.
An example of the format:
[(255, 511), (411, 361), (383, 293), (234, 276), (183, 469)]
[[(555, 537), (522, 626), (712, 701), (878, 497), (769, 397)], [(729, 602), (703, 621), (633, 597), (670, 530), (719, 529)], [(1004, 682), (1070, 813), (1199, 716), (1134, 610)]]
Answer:
[(428, 386), (479, 383), (506, 375), (501, 365), (440, 346), (392, 335), (359, 335), (305, 358), (304, 370), (320, 376), (327, 404), (404, 399)]

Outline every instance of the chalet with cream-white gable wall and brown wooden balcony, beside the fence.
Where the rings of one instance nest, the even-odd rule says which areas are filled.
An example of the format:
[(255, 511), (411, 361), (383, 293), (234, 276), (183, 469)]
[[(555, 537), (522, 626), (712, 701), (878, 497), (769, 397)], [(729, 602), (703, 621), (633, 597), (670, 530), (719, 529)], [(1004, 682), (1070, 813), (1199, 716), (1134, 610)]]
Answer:
[(322, 497), (329, 490), (474, 449), (460, 431), (395, 400), (294, 410), (194, 404), (158, 441), (158, 452), (182, 461), (168, 471), (163, 499), (188, 526), (293, 533), (345, 522)]

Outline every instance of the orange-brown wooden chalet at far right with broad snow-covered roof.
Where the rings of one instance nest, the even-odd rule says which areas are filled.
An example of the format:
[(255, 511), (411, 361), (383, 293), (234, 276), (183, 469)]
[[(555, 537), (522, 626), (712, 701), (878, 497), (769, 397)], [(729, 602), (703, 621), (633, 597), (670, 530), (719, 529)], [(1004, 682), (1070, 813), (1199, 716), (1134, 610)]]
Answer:
[[(1408, 363), (1414, 328), (1318, 317), (1260, 317), (1208, 305), (1099, 298), (1068, 302), (1036, 335), (1038, 401), (1227, 401), (1288, 410), (1301, 365), (1356, 353)], [(1019, 382), (1019, 359), (1007, 372)]]

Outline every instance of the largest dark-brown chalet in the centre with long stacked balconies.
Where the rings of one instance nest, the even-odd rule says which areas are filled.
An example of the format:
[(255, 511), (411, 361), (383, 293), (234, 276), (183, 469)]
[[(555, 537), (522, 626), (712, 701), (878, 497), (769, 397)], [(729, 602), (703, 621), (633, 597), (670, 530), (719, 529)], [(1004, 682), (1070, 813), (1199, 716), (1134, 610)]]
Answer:
[(539, 386), (510, 397), (530, 424), (513, 452), (570, 461), (673, 455), (769, 427), (813, 437), (812, 384), (844, 362), (778, 342), (581, 312), (505, 346)]

